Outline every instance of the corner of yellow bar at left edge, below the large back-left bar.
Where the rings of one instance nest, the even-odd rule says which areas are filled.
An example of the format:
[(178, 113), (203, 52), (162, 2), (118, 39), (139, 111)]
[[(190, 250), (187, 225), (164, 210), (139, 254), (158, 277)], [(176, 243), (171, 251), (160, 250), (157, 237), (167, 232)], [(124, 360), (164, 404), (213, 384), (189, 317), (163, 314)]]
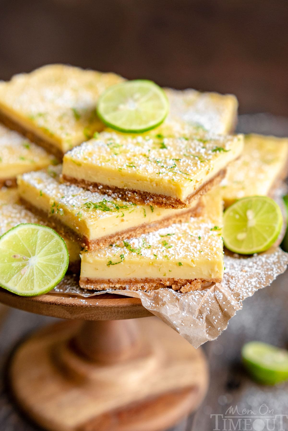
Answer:
[(17, 175), (46, 168), (52, 162), (54, 157), (43, 148), (0, 125), (0, 187), (14, 186)]

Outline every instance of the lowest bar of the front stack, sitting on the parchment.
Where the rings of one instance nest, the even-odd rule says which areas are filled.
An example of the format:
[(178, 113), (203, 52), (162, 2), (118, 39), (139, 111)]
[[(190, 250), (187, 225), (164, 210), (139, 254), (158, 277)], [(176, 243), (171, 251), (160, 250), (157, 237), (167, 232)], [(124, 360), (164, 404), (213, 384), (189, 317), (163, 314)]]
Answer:
[[(216, 190), (216, 189), (215, 189)], [(187, 223), (82, 253), (80, 285), (87, 289), (190, 292), (223, 277), (222, 198), (200, 198), (203, 212)]]

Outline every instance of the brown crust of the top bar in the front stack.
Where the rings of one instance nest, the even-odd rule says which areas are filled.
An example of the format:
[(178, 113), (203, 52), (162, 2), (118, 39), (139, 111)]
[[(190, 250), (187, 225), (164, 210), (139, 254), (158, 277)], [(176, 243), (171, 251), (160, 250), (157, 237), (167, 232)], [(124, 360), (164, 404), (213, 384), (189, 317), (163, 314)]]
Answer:
[(219, 184), (226, 175), (226, 169), (222, 169), (209, 181), (206, 181), (196, 191), (191, 193), (184, 202), (180, 199), (165, 196), (164, 194), (149, 193), (140, 190), (128, 190), (121, 189), (115, 186), (107, 186), (105, 184), (94, 183), (83, 179), (73, 178), (67, 175), (62, 175), (62, 179), (67, 184), (76, 184), (80, 187), (90, 190), (92, 192), (97, 191), (101, 194), (107, 194), (121, 200), (128, 200), (130, 202), (140, 205), (155, 205), (160, 208), (180, 209), (189, 207), (193, 200), (198, 199), (203, 194), (206, 194), (212, 187)]

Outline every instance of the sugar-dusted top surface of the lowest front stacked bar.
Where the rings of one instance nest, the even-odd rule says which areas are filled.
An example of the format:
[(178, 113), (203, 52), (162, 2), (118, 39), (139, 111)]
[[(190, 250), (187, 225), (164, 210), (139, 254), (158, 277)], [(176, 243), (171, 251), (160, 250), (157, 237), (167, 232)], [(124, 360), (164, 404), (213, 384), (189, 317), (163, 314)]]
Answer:
[[(133, 238), (114, 244), (110, 247), (84, 253), (82, 265), (88, 259), (104, 259), (104, 265), (122, 257), (121, 265), (129, 266), (129, 259), (150, 262), (163, 262), (165, 268), (168, 261), (191, 262), (197, 265), (199, 259), (203, 262), (213, 261), (212, 265), (223, 262), (222, 241), (222, 198), (215, 189), (203, 196), (203, 209), (197, 217), (191, 217), (189, 222), (174, 223), (168, 228), (159, 229), (156, 232), (142, 234), (139, 238)], [(200, 265), (200, 264), (199, 264)], [(117, 271), (117, 269), (116, 269)], [(129, 272), (129, 270), (128, 270)], [(169, 274), (168, 274), (169, 275)]]

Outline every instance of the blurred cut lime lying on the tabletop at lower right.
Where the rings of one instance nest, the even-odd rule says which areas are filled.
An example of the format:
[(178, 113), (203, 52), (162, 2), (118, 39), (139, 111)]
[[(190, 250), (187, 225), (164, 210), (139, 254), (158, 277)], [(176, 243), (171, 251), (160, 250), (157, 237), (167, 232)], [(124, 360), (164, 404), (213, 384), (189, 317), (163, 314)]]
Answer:
[(288, 379), (288, 351), (270, 344), (250, 341), (242, 348), (242, 360), (250, 375), (263, 384)]

